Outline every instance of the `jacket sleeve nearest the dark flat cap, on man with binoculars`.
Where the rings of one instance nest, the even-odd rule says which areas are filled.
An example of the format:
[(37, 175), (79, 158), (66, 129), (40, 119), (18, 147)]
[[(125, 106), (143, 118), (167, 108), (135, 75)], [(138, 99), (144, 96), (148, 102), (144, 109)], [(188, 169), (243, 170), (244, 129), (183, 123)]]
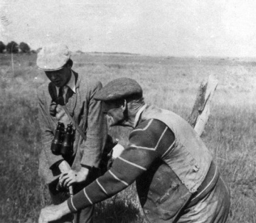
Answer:
[(81, 165), (95, 166), (96, 168), (100, 165), (107, 137), (107, 122), (102, 113), (102, 102), (93, 99), (95, 93), (100, 89), (102, 89), (102, 84), (97, 82), (88, 95), (87, 139), (80, 146), (83, 151)]

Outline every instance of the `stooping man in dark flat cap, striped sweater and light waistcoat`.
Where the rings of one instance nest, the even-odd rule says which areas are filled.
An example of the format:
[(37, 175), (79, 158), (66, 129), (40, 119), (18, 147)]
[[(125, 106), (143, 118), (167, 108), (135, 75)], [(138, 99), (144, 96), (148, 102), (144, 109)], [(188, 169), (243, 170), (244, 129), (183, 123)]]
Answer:
[[(108, 83), (95, 99), (104, 102), (110, 125), (129, 126), (129, 144), (112, 168), (67, 202), (41, 211), (39, 222), (77, 212), (124, 190), (134, 180), (149, 222), (223, 223), (230, 192), (196, 131), (174, 112), (145, 104), (132, 79)], [(65, 177), (61, 179), (65, 183)], [(57, 213), (57, 214), (56, 214)]]

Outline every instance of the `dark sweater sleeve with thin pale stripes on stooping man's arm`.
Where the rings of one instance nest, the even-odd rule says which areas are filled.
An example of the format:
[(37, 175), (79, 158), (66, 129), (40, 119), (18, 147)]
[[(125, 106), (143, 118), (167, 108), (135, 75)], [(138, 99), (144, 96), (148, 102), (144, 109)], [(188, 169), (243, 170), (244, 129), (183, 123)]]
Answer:
[(105, 200), (124, 190), (161, 160), (174, 143), (173, 132), (156, 119), (142, 121), (129, 136), (129, 144), (110, 170), (68, 199), (71, 212)]

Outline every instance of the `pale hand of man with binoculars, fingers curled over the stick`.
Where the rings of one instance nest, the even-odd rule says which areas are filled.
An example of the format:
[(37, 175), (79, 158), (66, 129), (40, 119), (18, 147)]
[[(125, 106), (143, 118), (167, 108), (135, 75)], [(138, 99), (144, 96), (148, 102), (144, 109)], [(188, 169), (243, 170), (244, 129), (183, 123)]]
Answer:
[(89, 170), (87, 168), (81, 168), (78, 172), (75, 170), (69, 170), (66, 173), (61, 173), (59, 183), (61, 187), (69, 187), (73, 183), (80, 183), (86, 180)]

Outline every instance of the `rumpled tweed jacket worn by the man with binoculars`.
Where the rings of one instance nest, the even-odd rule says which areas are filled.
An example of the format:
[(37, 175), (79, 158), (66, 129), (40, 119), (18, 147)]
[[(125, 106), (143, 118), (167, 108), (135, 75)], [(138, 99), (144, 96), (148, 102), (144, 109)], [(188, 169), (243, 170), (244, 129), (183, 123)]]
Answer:
[[(80, 170), (82, 165), (98, 167), (107, 136), (107, 122), (102, 114), (101, 102), (93, 99), (95, 93), (102, 88), (101, 82), (87, 80), (85, 75), (75, 75), (75, 93), (71, 94), (66, 107), (73, 119), (84, 131), (86, 141), (75, 131), (73, 157), (70, 163), (73, 170)], [(55, 165), (63, 157), (55, 156), (50, 151), (51, 141), (58, 123), (54, 112), (58, 106), (57, 92), (52, 82), (46, 82), (38, 89), (38, 119), (41, 128), (41, 154), (39, 157), (39, 175), (46, 183), (58, 178), (60, 170)]]

